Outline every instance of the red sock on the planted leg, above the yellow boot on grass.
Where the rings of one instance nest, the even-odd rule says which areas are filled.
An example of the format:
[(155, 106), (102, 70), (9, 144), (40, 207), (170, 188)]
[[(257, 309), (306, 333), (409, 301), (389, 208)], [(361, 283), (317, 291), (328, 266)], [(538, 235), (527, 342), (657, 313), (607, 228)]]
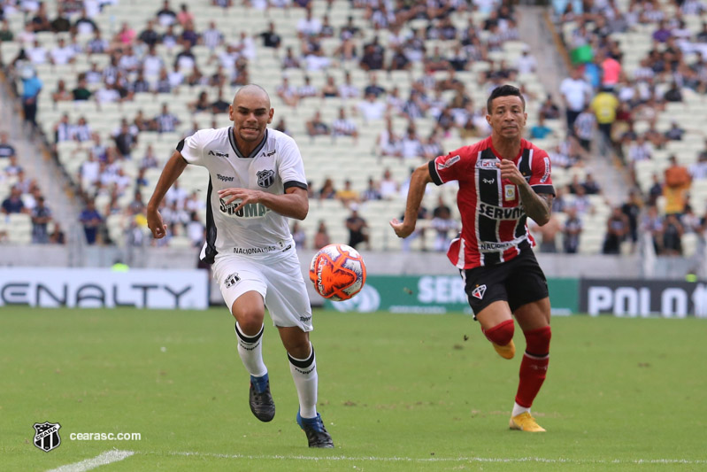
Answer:
[[(526, 352), (520, 362), (520, 382), (516, 403), (530, 408), (540, 387), (542, 387), (548, 370), (549, 339), (552, 337), (552, 331), (549, 326), (545, 326), (525, 331), (523, 334), (526, 335)], [(496, 343), (496, 341), (494, 342)]]

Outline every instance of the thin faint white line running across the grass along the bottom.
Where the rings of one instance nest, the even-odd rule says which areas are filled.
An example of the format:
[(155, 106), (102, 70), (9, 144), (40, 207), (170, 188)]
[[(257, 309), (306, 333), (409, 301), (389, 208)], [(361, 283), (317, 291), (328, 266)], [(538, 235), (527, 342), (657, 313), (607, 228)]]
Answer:
[(414, 458), (414, 457), (349, 457), (349, 456), (305, 456), (305, 455), (250, 455), (250, 454), (219, 454), (219, 453), (195, 453), (195, 452), (171, 452), (171, 453), (141, 453), (138, 454), (156, 454), (156, 455), (178, 455), (178, 456), (195, 456), (195, 457), (214, 457), (219, 459), (248, 459), (248, 460), (350, 460), (350, 461), (369, 461), (369, 462), (500, 462), (500, 463), (520, 463), (520, 462), (542, 462), (548, 464), (686, 464), (697, 465), (707, 464), (707, 460), (690, 460), (690, 459), (547, 459), (542, 457), (518, 457), (518, 458), (498, 458), (498, 457), (430, 457), (430, 458)]

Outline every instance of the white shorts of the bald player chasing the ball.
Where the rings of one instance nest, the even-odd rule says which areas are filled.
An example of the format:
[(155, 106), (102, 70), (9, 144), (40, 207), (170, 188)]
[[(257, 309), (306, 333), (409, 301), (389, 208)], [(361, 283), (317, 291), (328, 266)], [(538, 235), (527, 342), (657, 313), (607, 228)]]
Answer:
[(229, 310), (236, 298), (255, 290), (263, 296), (275, 326), (313, 329), (310, 298), (294, 248), (286, 257), (262, 261), (219, 254), (212, 270)]

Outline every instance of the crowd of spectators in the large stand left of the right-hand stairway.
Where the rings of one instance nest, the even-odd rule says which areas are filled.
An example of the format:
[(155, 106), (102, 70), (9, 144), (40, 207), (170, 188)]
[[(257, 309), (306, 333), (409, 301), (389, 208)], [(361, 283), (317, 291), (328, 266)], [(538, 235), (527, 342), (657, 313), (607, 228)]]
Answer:
[[(81, 8), (81, 3), (72, 1), (58, 2), (55, 12), (48, 12), (42, 2), (23, 2), (19, 5), (8, 4), (3, 10), (3, 18), (13, 14), (23, 14), (25, 27), (19, 32), (4, 35), (4, 40), (16, 41), (20, 45), (19, 53), (14, 58), (5, 58), (4, 66), (11, 74), (30, 75), (33, 66), (51, 64), (55, 66), (72, 65), (79, 55), (88, 58), (88, 67), (76, 68), (75, 77), (52, 84), (25, 84), (23, 94), (27, 95), (26, 117), (30, 126), (34, 126), (37, 94), (50, 94), (56, 104), (62, 101), (93, 101), (99, 107), (109, 103), (131, 102), (142, 94), (165, 97), (162, 112), (157, 116), (145, 116), (138, 112), (134, 117), (127, 117), (111, 133), (110, 139), (100, 135), (92, 128), (85, 117), (71, 119), (62, 116), (54, 127), (54, 135), (47, 136), (50, 143), (58, 150), (64, 142), (81, 143), (81, 150), (86, 151), (85, 162), (81, 165), (77, 177), (81, 196), (86, 202), (86, 215), (82, 217), (85, 226), (103, 225), (106, 218), (120, 211), (118, 201), (131, 203), (124, 206), (123, 212), (134, 217), (138, 224), (139, 208), (142, 198), (138, 194), (145, 179), (142, 162), (135, 166), (138, 174), (125, 173), (123, 163), (134, 162), (140, 156), (134, 156), (137, 143), (143, 132), (178, 132), (187, 135), (190, 129), (184, 129), (184, 118), (169, 112), (166, 97), (181, 89), (188, 89), (188, 95), (196, 97), (189, 102), (192, 112), (210, 112), (212, 114), (227, 111), (227, 99), (222, 90), (227, 86), (237, 86), (250, 82), (250, 65), (257, 57), (258, 50), (281, 49), (282, 36), (274, 22), (270, 22), (264, 31), (255, 35), (243, 31), (236, 41), (227, 41), (226, 35), (219, 31), (217, 22), (211, 21), (208, 27), (196, 28), (196, 15), (199, 12), (189, 10), (187, 4), (179, 8), (169, 0), (156, 9), (154, 16), (146, 19), (142, 28), (127, 22), (116, 25), (115, 30), (105, 31), (96, 17), (104, 4), (117, 4), (118, 0), (90, 3)], [(218, 6), (229, 8), (230, 2), (215, 2)], [(331, 6), (331, 4), (330, 4)], [(526, 51), (519, 65), (507, 65), (504, 61), (494, 62), (489, 53), (499, 51), (506, 41), (518, 39), (518, 29), (512, 3), (503, 0), (499, 8), (490, 12), (490, 5), (484, 6), (489, 13), (481, 20), (468, 16), (468, 24), (460, 27), (451, 18), (453, 15), (472, 12), (473, 7), (465, 2), (441, 1), (429, 4), (388, 4), (370, 2), (352, 2), (352, 7), (362, 11), (357, 18), (351, 16), (345, 24), (332, 25), (327, 13), (315, 15), (311, 3), (295, 2), (250, 2), (256, 10), (280, 7), (304, 8), (303, 18), (296, 21), (298, 47), (288, 46), (281, 54), (283, 78), (281, 85), (274, 90), (283, 104), (295, 108), (303, 100), (314, 97), (349, 98), (355, 105), (341, 107), (337, 116), (330, 122), (324, 122), (320, 116), (311, 117), (307, 123), (307, 132), (311, 136), (331, 135), (350, 136), (356, 142), (359, 129), (357, 121), (380, 120), (384, 117), (402, 117), (408, 124), (404, 133), (398, 135), (389, 128), (385, 140), (380, 139), (380, 155), (396, 156), (401, 159), (432, 159), (441, 154), (441, 137), (458, 132), (466, 137), (483, 135), (487, 125), (483, 116), (483, 104), (474, 104), (470, 92), (463, 81), (455, 74), (465, 71), (476, 60), (488, 60), (490, 68), (480, 74), (479, 86), (492, 89), (503, 80), (512, 80), (519, 73), (534, 69), (534, 59)], [(425, 20), (423, 23), (420, 20)], [(201, 23), (200, 23), (201, 24)], [(403, 27), (415, 25), (411, 33), (403, 33)], [(388, 35), (384, 46), (376, 35), (364, 41), (363, 31), (374, 27), (380, 35)], [(10, 31), (7, 23), (4, 30)], [(39, 34), (51, 32), (56, 35), (56, 42), (48, 44), (40, 41)], [(480, 39), (480, 33), (483, 38)], [(324, 46), (328, 40), (337, 40), (333, 50)], [(452, 41), (451, 50), (429, 47), (430, 40)], [(214, 74), (203, 74), (194, 55), (195, 46), (204, 46), (210, 51), (208, 64), (216, 66)], [(107, 60), (97, 60), (107, 58)], [(8, 60), (9, 59), (9, 60)], [(105, 63), (105, 65), (104, 65)], [(403, 97), (398, 89), (386, 89), (377, 81), (377, 74), (392, 71), (411, 71), (412, 66), (421, 65), (425, 71), (421, 77), (415, 77), (408, 97)], [(309, 79), (304, 84), (293, 87), (288, 83), (288, 70), (302, 69), (314, 73), (329, 67), (351, 69), (359, 67), (369, 71), (370, 83), (358, 89), (347, 74), (342, 83), (335, 83), (330, 76), (320, 87), (311, 84)], [(435, 80), (434, 73), (447, 71), (443, 80)], [(32, 74), (33, 79), (37, 79)], [(219, 89), (215, 101), (209, 98), (206, 89)], [(450, 100), (442, 99), (443, 92), (453, 92)], [(34, 111), (32, 108), (34, 107)], [(352, 119), (355, 118), (356, 120)], [(416, 120), (431, 117), (437, 122), (429, 135), (420, 136)], [(290, 130), (284, 119), (274, 123), (274, 128), (286, 133)], [(295, 136), (301, 137), (301, 136)], [(388, 176), (389, 179), (389, 176)], [(365, 199), (392, 197), (397, 191), (390, 191), (389, 182), (369, 182), (367, 189), (353, 189), (351, 183), (345, 183), (339, 192), (328, 192), (345, 205), (357, 204)], [(402, 182), (395, 182), (400, 186)], [(348, 185), (348, 188), (346, 186)], [(132, 195), (126, 196), (129, 192)], [(348, 197), (346, 197), (348, 196)], [(104, 205), (97, 202), (107, 201)], [(178, 208), (183, 212), (185, 209)], [(101, 218), (101, 223), (98, 221)], [(183, 215), (181, 220), (184, 220)], [(190, 220), (190, 219), (189, 219)], [(87, 222), (90, 221), (90, 222)], [(177, 227), (175, 227), (175, 231)], [(88, 230), (89, 244), (106, 242), (107, 233), (101, 230)]]

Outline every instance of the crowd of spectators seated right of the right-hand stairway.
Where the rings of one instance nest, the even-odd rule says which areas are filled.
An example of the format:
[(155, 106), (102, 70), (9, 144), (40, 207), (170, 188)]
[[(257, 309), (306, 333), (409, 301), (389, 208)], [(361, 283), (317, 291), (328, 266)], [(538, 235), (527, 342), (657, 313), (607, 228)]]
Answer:
[[(600, 156), (615, 153), (634, 180), (626, 202), (611, 208), (603, 252), (619, 253), (625, 242), (634, 251), (639, 233), (645, 233), (658, 254), (681, 254), (682, 236), (694, 233), (703, 241), (707, 230), (688, 197), (691, 185), (706, 183), (707, 153), (671, 155), (665, 172), (655, 173), (649, 186), (639, 182), (637, 163), (663, 159), (658, 153), (670, 149), (669, 143), (686, 139), (679, 120), (664, 128), (660, 119), (669, 104), (707, 92), (707, 23), (701, 30), (688, 27), (695, 24), (688, 17), (698, 18), (707, 7), (689, 1), (630, 2), (622, 8), (614, 0), (590, 0), (559, 2), (556, 8), (573, 62), (560, 88), (567, 128), (585, 151), (598, 145)], [(634, 40), (626, 35), (646, 46), (631, 47)]]

